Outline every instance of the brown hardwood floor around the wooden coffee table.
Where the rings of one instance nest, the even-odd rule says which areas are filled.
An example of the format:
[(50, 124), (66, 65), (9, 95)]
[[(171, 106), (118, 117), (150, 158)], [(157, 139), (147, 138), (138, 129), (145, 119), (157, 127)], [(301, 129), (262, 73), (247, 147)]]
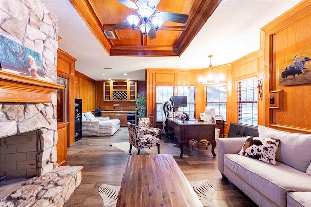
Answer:
[[(166, 136), (162, 136), (166, 140)], [(84, 166), (82, 183), (74, 191), (64, 207), (103, 207), (98, 188), (103, 183), (121, 185), (127, 160), (126, 153), (110, 146), (111, 143), (128, 141), (127, 128), (120, 128), (110, 137), (83, 137), (74, 146), (67, 148), (67, 163), (70, 166)], [(217, 156), (211, 154), (204, 144), (184, 146), (189, 158), (174, 157), (189, 181), (208, 179), (214, 185), (212, 202), (217, 207), (256, 207), (232, 183), (222, 179), (217, 168)], [(133, 149), (132, 149), (133, 150)], [(132, 151), (135, 152), (135, 151)], [(217, 147), (216, 147), (217, 154)]]

